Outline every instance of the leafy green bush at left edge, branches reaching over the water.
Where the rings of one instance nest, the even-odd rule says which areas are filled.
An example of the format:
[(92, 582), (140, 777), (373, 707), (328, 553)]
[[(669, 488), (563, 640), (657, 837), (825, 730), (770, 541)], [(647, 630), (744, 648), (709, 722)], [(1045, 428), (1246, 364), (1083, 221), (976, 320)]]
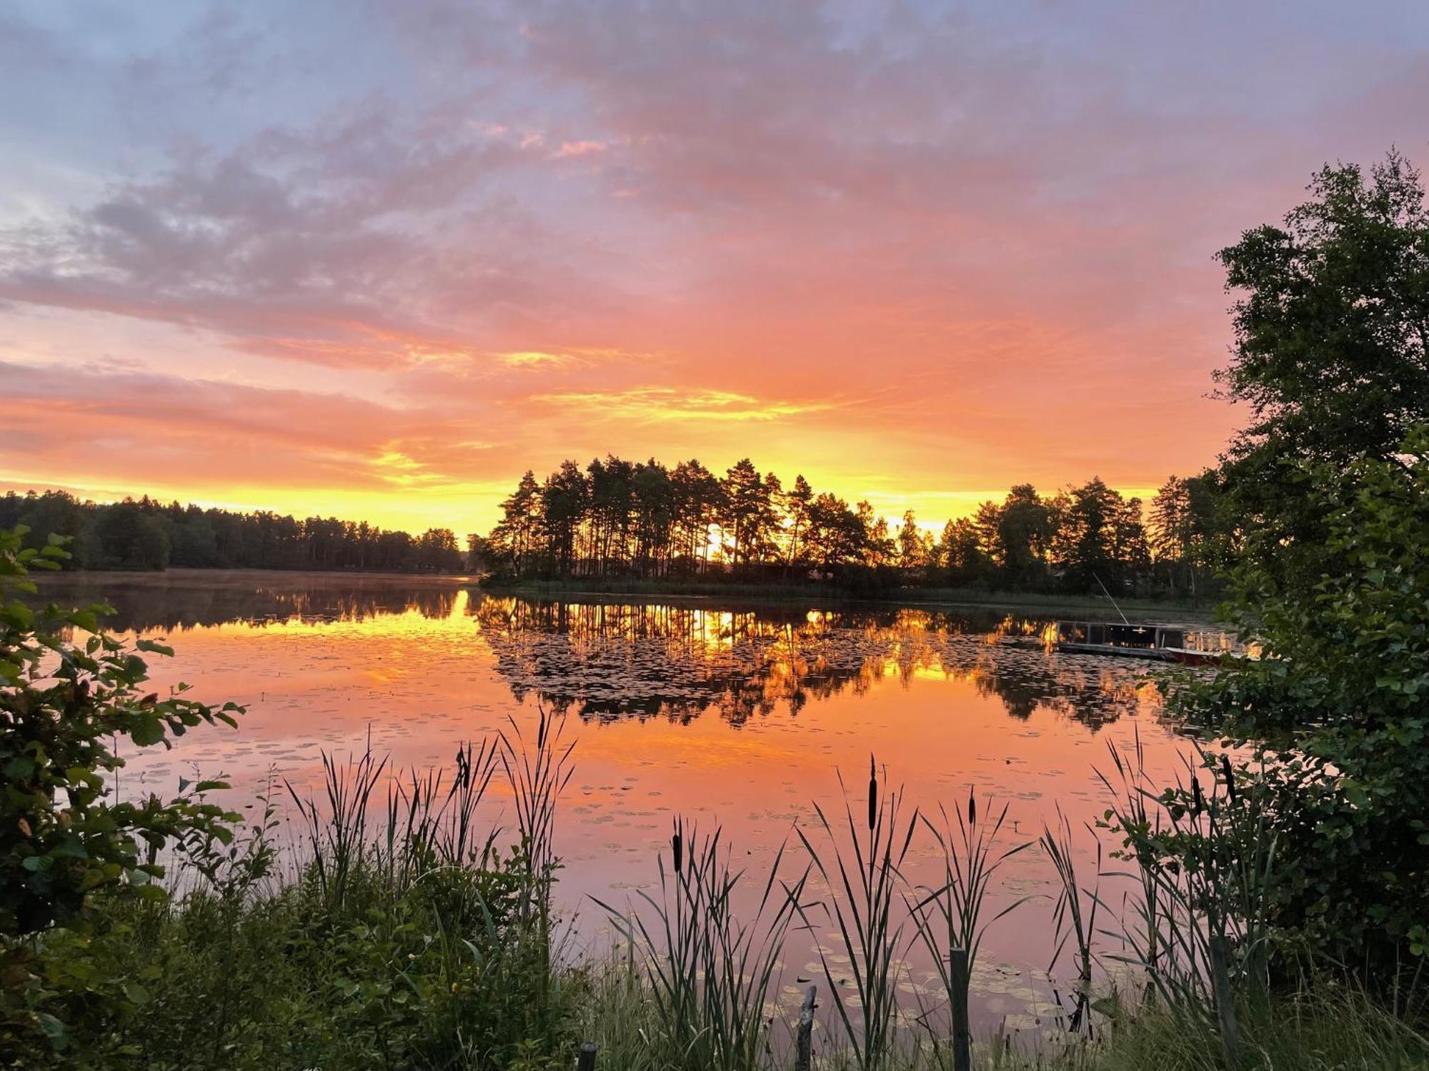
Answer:
[(83, 947), (101, 902), (164, 900), (163, 858), (207, 860), (211, 870), (237, 820), (204, 800), (220, 781), (177, 800), (119, 798), (107, 778), (124, 763), (111, 741), (167, 744), (200, 724), (233, 725), (242, 711), (194, 703), (183, 688), (146, 694), (141, 654), (169, 651), (106, 635), (106, 607), (23, 601), (36, 591), (30, 568), (66, 557), (63, 538), (26, 548), (24, 534), (0, 530), (0, 1042), (63, 1048), (64, 1021), (49, 1008), (53, 987), (73, 982), (94, 1000), (113, 992), (79, 965), (66, 975), (51, 952)]

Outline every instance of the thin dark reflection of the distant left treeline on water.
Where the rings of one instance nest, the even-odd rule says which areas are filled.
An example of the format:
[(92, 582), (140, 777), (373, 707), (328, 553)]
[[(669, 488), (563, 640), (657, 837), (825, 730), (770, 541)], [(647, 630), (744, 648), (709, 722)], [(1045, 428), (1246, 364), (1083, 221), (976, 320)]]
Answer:
[(417, 611), (447, 617), (457, 587), (420, 587), (374, 580), (304, 581), (302, 578), (230, 578), (219, 583), (167, 583), (166, 578), (103, 577), (103, 584), (50, 583), (37, 598), (60, 603), (109, 603), (114, 615), (106, 625), (116, 631), (180, 631), (220, 624), (274, 624), (306, 621), (360, 621), (376, 614)]

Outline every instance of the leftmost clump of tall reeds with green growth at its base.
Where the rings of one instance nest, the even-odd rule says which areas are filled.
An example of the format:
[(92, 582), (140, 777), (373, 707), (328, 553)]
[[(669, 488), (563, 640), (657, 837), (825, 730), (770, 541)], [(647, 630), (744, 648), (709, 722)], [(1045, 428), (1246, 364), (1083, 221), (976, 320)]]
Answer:
[[(562, 728), (542, 708), (533, 735), (512, 720), (459, 747), (450, 770), (403, 775), (370, 750), (346, 763), (324, 753), (326, 805), (287, 785), (303, 828), (299, 887), (313, 888), (326, 924), (352, 920), (373, 950), (396, 952), (393, 981), (376, 982), (374, 1020), (406, 1020), (392, 1031), (436, 1040), (427, 1058), (437, 1065), (494, 1065), (513, 1045), (563, 1035), (553, 837), (573, 743)], [(497, 773), (514, 811), (509, 845), (500, 824), (479, 815)]]

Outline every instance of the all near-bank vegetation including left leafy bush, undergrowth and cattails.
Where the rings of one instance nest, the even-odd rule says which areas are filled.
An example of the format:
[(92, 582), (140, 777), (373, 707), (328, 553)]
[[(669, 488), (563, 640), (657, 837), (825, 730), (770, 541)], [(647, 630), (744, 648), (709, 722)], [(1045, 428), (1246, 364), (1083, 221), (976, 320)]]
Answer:
[[(29, 567), (63, 555), (49, 545), (0, 533), (0, 587), (30, 587)], [(523, 714), (440, 770), (324, 755), (316, 795), (270, 784), (242, 810), (217, 803), (221, 780), (129, 800), (107, 783), (123, 765), (107, 741), (153, 747), (242, 710), (143, 695), (144, 655), (170, 651), (104, 635), (91, 611), (0, 605), (0, 668), (20, 688), (0, 735), (21, 801), (0, 815), (16, 820), (0, 841), (11, 1067), (557, 1071), (593, 1041), (600, 1068), (780, 1071), (800, 1051), (780, 962), (809, 931), (826, 934), (820, 1071), (1429, 1067), (1418, 982), (1369, 990), (1276, 934), (1276, 787), (1215, 753), (1165, 791), (1136, 751), (1109, 753), (1110, 855), (1066, 821), (1013, 833), (1017, 815), (987, 795), (909, 813), (870, 757), (866, 790), (815, 805), (765, 874), (743, 873), (717, 828), (676, 818), (644, 864), (656, 885), (593, 901), (616, 942), (582, 952), (554, 897), (579, 761), (564, 718)], [(37, 668), (40, 648), (57, 668)], [(54, 704), (63, 734), (37, 763), (29, 741)], [(910, 845), (942, 860), (932, 887), (903, 877)], [(1043, 860), (1053, 894), (993, 914), (1019, 853)], [(1119, 871), (1135, 891), (1113, 911), (1103, 880)], [(1032, 1028), (969, 1035), (956, 1010), (977, 950), (1013, 924), (1043, 928), (1052, 1000)], [(926, 981), (910, 955), (935, 967)], [(957, 955), (966, 971), (945, 970)]]

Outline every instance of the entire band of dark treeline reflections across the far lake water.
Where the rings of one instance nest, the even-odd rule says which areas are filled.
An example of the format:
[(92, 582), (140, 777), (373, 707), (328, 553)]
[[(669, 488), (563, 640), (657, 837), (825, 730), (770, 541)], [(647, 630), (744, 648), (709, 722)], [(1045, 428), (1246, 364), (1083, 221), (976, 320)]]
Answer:
[(110, 627), (136, 633), (470, 617), (517, 701), (587, 721), (709, 713), (742, 727), (915, 677), (969, 683), (1019, 721), (1050, 711), (1092, 730), (1149, 701), (1143, 667), (1053, 654), (1050, 617), (992, 608), (529, 600), (439, 577), (194, 571), (70, 574), (41, 594), (104, 598)]

